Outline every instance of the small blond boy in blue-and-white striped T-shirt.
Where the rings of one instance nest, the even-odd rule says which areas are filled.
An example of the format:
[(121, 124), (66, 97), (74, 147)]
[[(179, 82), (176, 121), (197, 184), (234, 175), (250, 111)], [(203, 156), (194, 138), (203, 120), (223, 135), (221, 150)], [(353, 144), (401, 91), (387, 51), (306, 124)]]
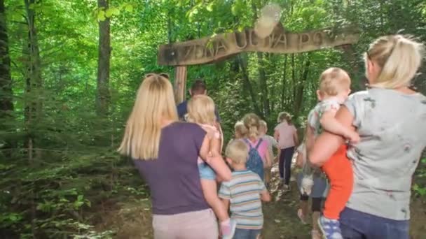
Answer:
[(234, 169), (232, 179), (222, 182), (219, 198), (225, 208), (230, 208), (231, 218), (237, 226), (234, 239), (256, 239), (263, 227), (261, 201), (270, 201), (265, 184), (257, 175), (246, 168), (249, 149), (242, 140), (233, 140), (226, 147), (226, 161)]

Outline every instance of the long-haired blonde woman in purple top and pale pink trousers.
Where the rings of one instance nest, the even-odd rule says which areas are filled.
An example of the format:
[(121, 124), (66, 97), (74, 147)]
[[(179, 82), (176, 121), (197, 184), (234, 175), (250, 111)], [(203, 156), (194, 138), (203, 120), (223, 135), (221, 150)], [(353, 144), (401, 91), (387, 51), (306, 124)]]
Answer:
[(216, 217), (202, 194), (198, 156), (208, 158), (224, 180), (231, 171), (221, 157), (207, 157), (209, 138), (200, 126), (178, 121), (172, 85), (163, 75), (143, 80), (118, 151), (132, 157), (149, 185), (154, 238), (218, 238)]

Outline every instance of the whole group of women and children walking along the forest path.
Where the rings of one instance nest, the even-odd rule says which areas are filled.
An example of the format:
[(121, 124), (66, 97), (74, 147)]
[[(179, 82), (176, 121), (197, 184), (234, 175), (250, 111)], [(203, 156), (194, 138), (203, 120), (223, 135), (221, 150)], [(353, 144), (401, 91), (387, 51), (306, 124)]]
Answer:
[(298, 216), (305, 222), (311, 197), (312, 238), (409, 238), (411, 177), (426, 146), (426, 97), (410, 85), (423, 50), (406, 36), (380, 37), (364, 55), (369, 89), (349, 96), (350, 75), (341, 68), (320, 75), (319, 103), (301, 142), (289, 114), (280, 113), (274, 137), (247, 114), (225, 149), (202, 81), (176, 107), (167, 77), (147, 75), (119, 152), (149, 185), (154, 238), (259, 238), (273, 147), (284, 190), (298, 151)]

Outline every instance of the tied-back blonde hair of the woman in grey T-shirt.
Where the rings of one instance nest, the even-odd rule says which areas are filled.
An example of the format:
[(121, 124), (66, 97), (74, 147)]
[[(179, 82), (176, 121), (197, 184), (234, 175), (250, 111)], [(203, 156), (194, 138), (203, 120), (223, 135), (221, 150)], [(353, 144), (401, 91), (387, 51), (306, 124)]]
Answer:
[(422, 62), (424, 50), (425, 46), (410, 36), (378, 38), (366, 52), (366, 59), (376, 62), (381, 68), (378, 78), (370, 86), (394, 89), (410, 85)]

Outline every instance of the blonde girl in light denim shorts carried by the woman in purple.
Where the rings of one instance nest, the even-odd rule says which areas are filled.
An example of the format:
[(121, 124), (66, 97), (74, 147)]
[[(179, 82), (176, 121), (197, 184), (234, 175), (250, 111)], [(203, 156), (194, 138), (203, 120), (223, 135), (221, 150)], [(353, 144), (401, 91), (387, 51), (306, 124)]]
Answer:
[[(223, 137), (217, 130), (216, 116), (214, 115), (214, 102), (206, 95), (197, 95), (188, 102), (188, 122), (193, 122), (202, 127), (207, 132), (210, 140), (209, 153), (212, 155), (221, 155)], [(222, 238), (232, 238), (235, 232), (235, 220), (230, 219), (228, 209), (225, 208), (219, 196), (217, 196), (217, 180), (216, 173), (209, 166), (209, 161), (204, 161), (198, 157), (198, 170), (200, 171), (202, 193), (207, 203), (212, 207), (217, 215)]]

